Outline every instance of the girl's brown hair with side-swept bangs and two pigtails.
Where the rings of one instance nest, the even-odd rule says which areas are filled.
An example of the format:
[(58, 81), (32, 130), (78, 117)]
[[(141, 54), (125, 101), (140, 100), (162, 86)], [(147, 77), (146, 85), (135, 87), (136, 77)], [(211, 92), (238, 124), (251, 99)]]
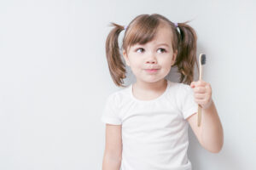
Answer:
[[(180, 72), (180, 82), (190, 84), (194, 79), (194, 65), (196, 62), (196, 34), (195, 30), (187, 25), (187, 22), (178, 23), (176, 26), (172, 21), (160, 14), (141, 14), (127, 26), (125, 36), (123, 38), (122, 49), (127, 52), (128, 48), (137, 43), (145, 44), (154, 39), (158, 26), (161, 22), (165, 22), (172, 30), (172, 49), (177, 50), (177, 58), (173, 66), (177, 65), (177, 71)], [(118, 43), (119, 33), (125, 29), (124, 26), (111, 23), (114, 26), (112, 31), (108, 34), (106, 41), (106, 54), (108, 59), (108, 68), (117, 86), (124, 87), (125, 79), (125, 64), (120, 55), (120, 48)], [(171, 37), (170, 37), (171, 38)]]

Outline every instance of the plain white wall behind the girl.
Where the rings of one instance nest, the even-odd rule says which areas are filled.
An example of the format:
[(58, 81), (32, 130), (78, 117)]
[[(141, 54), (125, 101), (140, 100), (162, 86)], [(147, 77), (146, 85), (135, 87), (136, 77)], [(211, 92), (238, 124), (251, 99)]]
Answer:
[(253, 0), (1, 1), (0, 169), (102, 168), (102, 107), (119, 90), (105, 57), (109, 22), (154, 13), (193, 20), (198, 54), (207, 54), (203, 79), (224, 147), (208, 152), (189, 127), (193, 169), (256, 169), (255, 7)]

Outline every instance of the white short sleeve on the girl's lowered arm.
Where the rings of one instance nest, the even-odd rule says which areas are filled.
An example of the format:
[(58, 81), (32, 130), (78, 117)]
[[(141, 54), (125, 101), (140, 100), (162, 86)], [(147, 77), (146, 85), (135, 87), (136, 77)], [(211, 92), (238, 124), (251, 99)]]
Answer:
[(119, 118), (119, 108), (117, 106), (118, 101), (116, 95), (110, 94), (104, 105), (101, 121), (113, 125), (122, 124)]

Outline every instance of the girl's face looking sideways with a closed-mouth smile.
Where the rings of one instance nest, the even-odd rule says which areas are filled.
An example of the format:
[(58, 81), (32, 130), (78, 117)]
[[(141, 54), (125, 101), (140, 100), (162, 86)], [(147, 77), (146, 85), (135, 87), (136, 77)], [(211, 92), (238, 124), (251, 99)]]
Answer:
[[(126, 65), (137, 80), (143, 82), (157, 82), (171, 70), (174, 64), (177, 50), (172, 51), (172, 33), (169, 27), (161, 25), (154, 40), (146, 44), (135, 44), (128, 49), (128, 54), (123, 51)], [(164, 45), (166, 44), (166, 45)], [(157, 69), (149, 71), (148, 69)]]

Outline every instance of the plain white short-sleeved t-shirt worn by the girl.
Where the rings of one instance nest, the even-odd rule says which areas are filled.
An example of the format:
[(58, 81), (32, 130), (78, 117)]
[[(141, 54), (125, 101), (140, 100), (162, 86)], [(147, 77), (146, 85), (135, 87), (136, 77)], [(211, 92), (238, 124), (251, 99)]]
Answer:
[(132, 84), (110, 94), (102, 122), (122, 125), (121, 170), (191, 170), (185, 120), (197, 112), (193, 89), (167, 80), (156, 99), (141, 100)]

